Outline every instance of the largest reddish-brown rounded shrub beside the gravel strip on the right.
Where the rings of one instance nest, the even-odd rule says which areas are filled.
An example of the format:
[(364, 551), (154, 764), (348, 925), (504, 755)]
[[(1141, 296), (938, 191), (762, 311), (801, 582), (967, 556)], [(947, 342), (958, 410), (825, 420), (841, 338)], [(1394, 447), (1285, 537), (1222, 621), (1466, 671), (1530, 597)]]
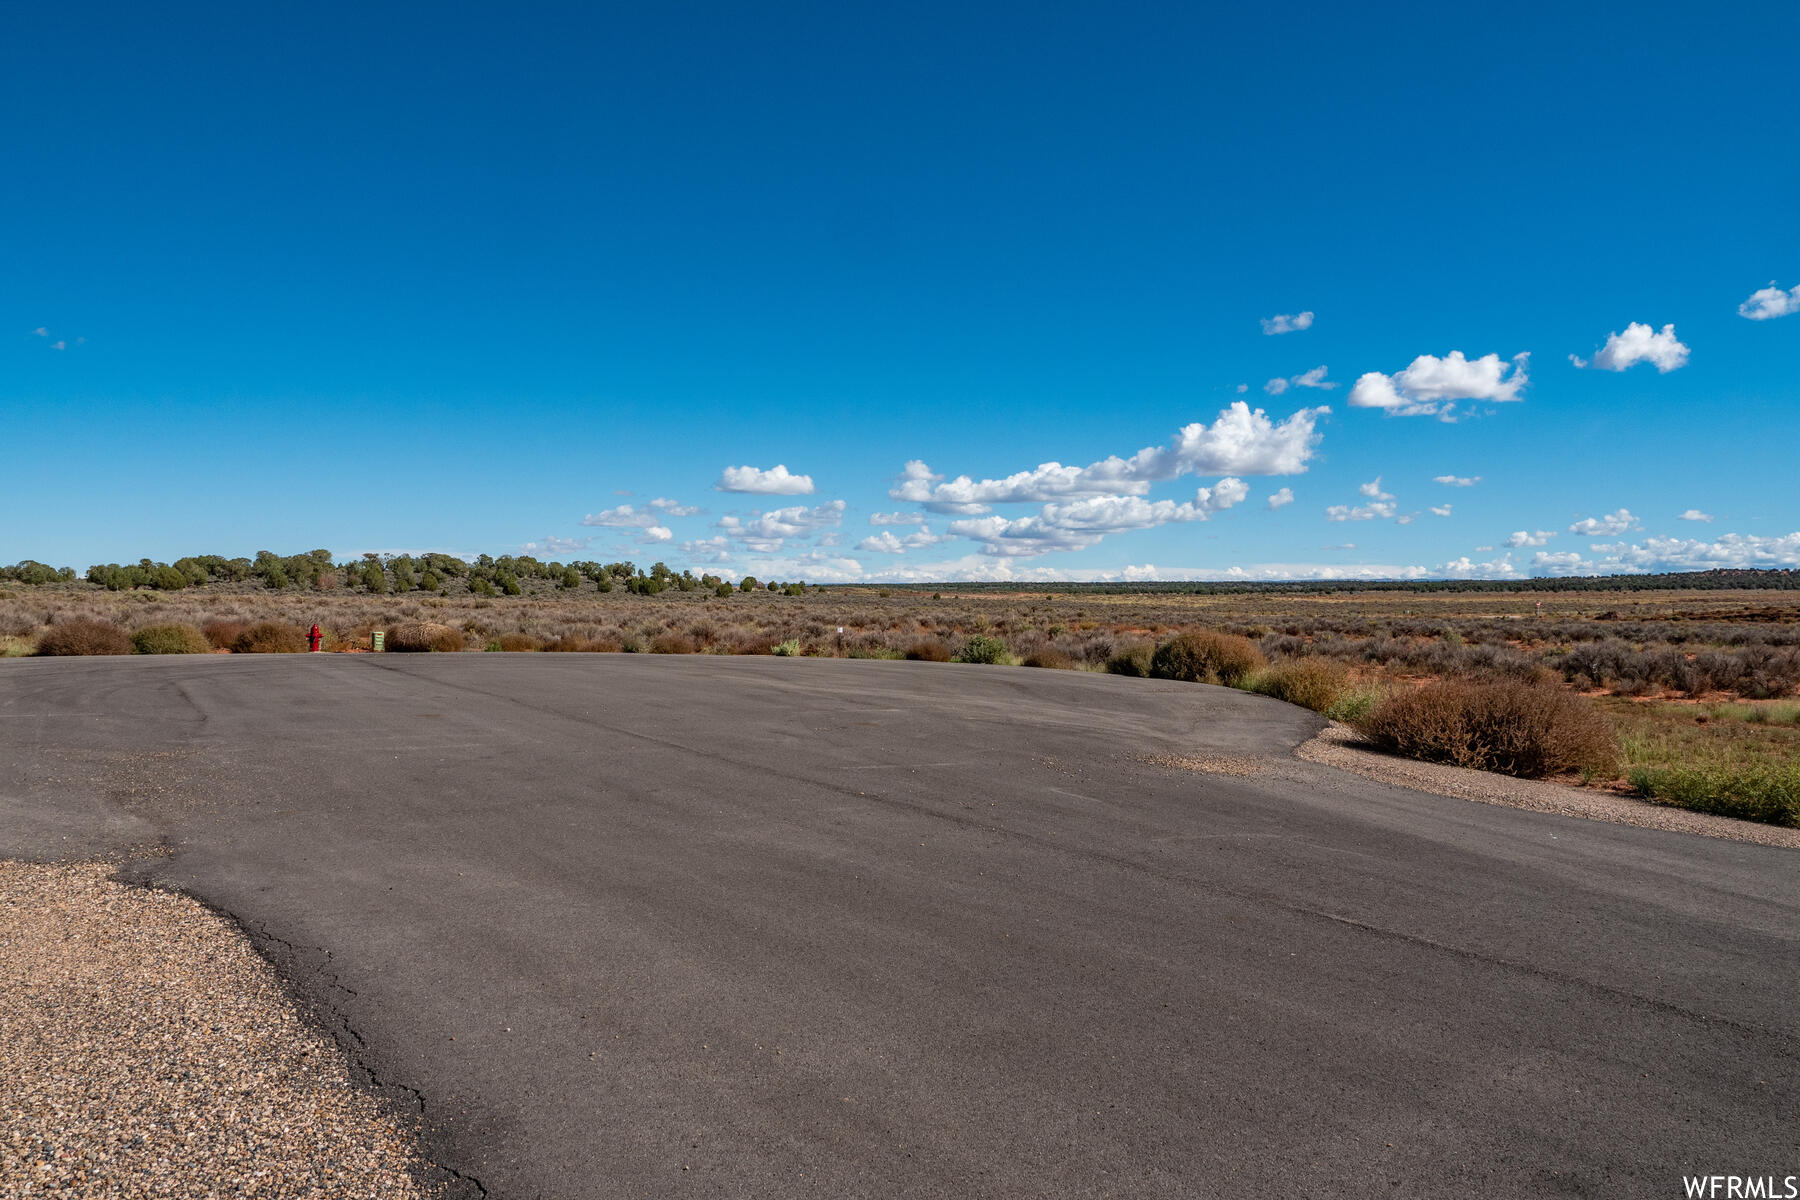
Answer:
[(1611, 774), (1618, 741), (1588, 700), (1517, 680), (1438, 680), (1397, 691), (1357, 721), (1375, 745), (1408, 757), (1541, 779)]

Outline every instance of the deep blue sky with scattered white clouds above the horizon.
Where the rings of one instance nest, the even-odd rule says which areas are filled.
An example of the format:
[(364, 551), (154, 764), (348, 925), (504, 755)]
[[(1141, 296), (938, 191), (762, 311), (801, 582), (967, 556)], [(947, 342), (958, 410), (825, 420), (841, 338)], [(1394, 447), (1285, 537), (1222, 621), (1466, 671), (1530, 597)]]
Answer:
[(1580, 7), (14, 9), (0, 560), (1800, 565), (1800, 9)]

